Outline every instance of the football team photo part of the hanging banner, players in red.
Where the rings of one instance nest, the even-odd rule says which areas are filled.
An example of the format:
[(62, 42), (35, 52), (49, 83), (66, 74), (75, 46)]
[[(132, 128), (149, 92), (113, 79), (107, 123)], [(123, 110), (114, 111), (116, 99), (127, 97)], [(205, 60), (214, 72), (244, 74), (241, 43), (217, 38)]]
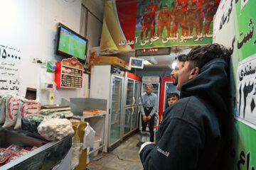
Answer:
[(216, 0), (137, 2), (134, 48), (199, 45), (212, 42)]

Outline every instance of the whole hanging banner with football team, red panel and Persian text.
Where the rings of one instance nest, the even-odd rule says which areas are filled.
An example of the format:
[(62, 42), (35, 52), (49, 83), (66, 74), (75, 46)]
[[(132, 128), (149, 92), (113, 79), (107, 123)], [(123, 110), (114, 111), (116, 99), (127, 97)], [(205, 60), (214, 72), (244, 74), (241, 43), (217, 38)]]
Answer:
[(208, 44), (219, 0), (117, 0), (105, 4), (100, 50)]

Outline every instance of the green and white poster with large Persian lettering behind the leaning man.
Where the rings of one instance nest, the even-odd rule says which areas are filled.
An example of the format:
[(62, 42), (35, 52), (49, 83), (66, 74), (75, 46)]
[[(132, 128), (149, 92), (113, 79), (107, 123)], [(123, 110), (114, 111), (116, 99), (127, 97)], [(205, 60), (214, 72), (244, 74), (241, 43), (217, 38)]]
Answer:
[(230, 151), (230, 169), (256, 169), (256, 1), (220, 2), (213, 25), (213, 42), (230, 47), (235, 115)]

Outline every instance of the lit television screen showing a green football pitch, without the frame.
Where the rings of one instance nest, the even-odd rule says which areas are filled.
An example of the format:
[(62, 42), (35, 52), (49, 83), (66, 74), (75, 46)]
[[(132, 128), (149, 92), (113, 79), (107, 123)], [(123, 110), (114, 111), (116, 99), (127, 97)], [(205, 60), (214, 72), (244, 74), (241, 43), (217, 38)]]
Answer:
[(60, 39), (58, 51), (78, 57), (80, 60), (86, 59), (87, 40), (80, 38), (70, 30), (60, 28)]

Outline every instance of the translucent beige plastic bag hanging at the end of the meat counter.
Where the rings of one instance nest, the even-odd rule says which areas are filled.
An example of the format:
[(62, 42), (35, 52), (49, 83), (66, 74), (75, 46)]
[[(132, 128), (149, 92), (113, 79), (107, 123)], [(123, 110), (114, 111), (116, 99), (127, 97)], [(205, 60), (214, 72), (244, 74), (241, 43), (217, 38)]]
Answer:
[(78, 166), (81, 154), (82, 154), (82, 143), (80, 142), (80, 138), (78, 136), (78, 126), (76, 126), (75, 137), (73, 137), (73, 141), (72, 141), (72, 160), (71, 160), (72, 169), (75, 169), (75, 167)]

